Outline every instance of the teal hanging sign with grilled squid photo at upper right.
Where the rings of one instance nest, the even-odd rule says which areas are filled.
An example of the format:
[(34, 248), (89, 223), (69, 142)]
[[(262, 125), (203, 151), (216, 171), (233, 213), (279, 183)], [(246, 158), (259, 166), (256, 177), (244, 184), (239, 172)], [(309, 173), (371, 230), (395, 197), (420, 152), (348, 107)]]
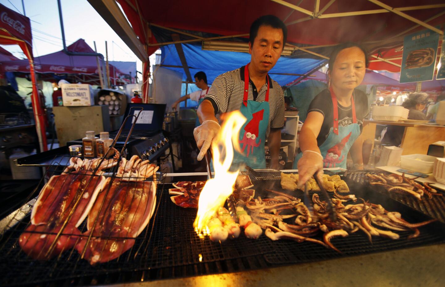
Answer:
[(430, 81), (433, 79), (439, 34), (423, 30), (403, 39), (400, 83)]

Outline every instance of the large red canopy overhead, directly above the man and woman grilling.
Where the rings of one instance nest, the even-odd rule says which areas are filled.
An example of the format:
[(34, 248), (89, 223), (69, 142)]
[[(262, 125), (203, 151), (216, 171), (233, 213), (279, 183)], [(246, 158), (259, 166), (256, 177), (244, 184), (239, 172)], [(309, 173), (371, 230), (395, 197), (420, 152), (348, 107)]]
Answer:
[[(327, 58), (332, 45), (355, 41), (371, 51), (400, 46), (403, 36), (444, 22), (443, 0), (116, 0), (131, 27), (126, 24), (114, 0), (89, 0), (111, 27), (140, 57), (140, 44), (150, 55), (170, 43), (208, 40), (244, 41), (251, 23), (261, 15), (273, 14), (284, 21), (292, 55)], [(394, 15), (397, 14), (397, 15)], [(180, 34), (180, 38), (172, 36)], [(209, 35), (210, 34), (210, 35)], [(130, 41), (129, 41), (130, 40)], [(146, 56), (145, 55), (145, 56)], [(143, 77), (149, 75), (144, 63)], [(147, 90), (144, 87), (144, 91)]]

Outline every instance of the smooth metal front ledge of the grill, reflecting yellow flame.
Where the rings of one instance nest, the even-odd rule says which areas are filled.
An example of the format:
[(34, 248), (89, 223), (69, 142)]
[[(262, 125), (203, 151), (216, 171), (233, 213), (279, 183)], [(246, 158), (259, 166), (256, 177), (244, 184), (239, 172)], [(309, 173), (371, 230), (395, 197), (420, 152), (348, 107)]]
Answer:
[(114, 284), (114, 287), (170, 286), (445, 286), (445, 244), (302, 263), (255, 271)]

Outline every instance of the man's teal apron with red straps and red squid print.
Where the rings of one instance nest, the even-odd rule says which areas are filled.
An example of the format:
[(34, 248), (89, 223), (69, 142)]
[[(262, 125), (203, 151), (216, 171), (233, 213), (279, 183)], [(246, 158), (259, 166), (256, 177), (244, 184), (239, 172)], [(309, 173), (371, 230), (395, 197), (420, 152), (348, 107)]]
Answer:
[[(269, 76), (266, 76), (266, 81), (267, 90), (264, 102), (248, 100), (249, 64), (244, 67), (244, 97), (239, 111), (247, 120), (239, 130), (239, 144), (242, 152), (239, 153), (234, 150), (231, 171), (239, 168), (244, 170), (245, 165), (252, 169), (266, 168), (264, 144), (266, 142), (267, 125), (269, 124)], [(210, 169), (213, 171), (213, 159)]]

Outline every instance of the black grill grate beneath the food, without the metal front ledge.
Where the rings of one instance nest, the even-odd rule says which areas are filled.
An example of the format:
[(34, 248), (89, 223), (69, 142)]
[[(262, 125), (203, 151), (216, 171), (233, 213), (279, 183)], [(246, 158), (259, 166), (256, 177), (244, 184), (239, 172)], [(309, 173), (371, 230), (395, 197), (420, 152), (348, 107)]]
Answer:
[[(276, 180), (279, 173), (263, 173), (252, 175), (251, 178), (258, 194), (265, 194), (265, 188), (279, 189), (279, 181)], [(357, 197), (382, 204), (388, 210), (399, 211), (410, 222), (430, 218), (384, 194), (374, 192), (367, 186), (349, 178), (343, 179)], [(140, 282), (246, 271), (445, 242), (445, 225), (435, 222), (420, 228), (421, 235), (412, 240), (406, 239), (411, 232), (396, 232), (401, 235), (400, 240), (375, 237), (373, 244), (359, 232), (332, 240), (342, 254), (318, 244), (271, 241), (264, 235), (258, 240), (248, 240), (242, 235), (238, 239), (219, 244), (211, 242), (207, 237), (199, 238), (193, 228), (196, 209), (174, 205), (170, 201), (169, 188), (172, 188), (171, 184), (158, 184), (154, 215), (150, 224), (136, 239), (133, 248), (118, 259), (95, 266), (80, 259), (74, 250), (64, 252), (60, 257), (49, 261), (27, 257), (17, 244), (18, 237), (29, 221), (29, 216), (24, 218), (0, 239), (0, 268), (4, 270), (0, 285), (82, 286)], [(292, 194), (300, 198), (303, 196), (302, 192)], [(85, 227), (81, 225), (79, 228)], [(321, 239), (321, 236), (317, 239)]]

